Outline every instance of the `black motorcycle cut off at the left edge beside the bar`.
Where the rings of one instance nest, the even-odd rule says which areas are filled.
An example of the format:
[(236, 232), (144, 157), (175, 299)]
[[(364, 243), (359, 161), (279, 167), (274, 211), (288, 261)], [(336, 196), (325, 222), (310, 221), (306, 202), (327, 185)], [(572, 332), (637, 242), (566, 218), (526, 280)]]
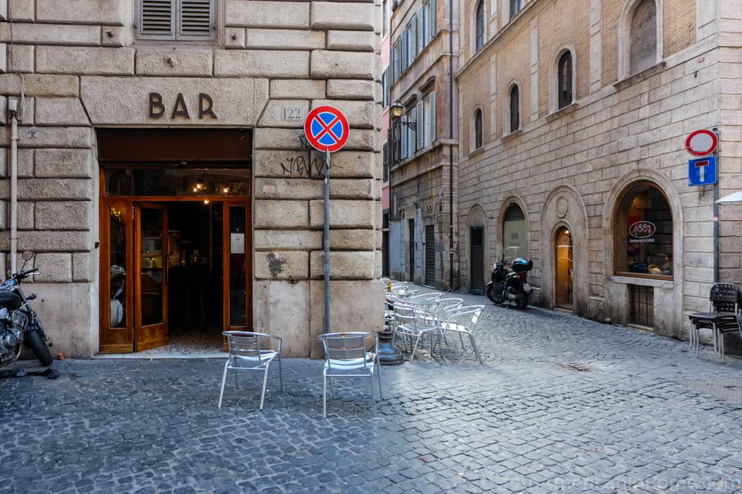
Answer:
[(22, 346), (29, 348), (45, 367), (51, 365), (53, 358), (49, 350), (49, 338), (44, 332), (39, 316), (29, 302), (36, 294), (25, 296), (21, 281), (36, 276), (39, 270), (25, 270), (26, 263), (33, 258), (33, 252), (24, 251), (23, 267), (0, 284), (0, 365), (10, 364), (21, 356)]

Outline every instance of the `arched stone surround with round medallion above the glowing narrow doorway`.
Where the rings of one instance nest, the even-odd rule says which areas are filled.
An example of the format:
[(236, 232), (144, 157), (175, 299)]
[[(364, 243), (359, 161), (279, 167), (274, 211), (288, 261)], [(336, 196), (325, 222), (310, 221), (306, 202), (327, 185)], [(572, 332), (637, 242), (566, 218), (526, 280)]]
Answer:
[(584, 316), (588, 310), (588, 215), (582, 196), (570, 185), (551, 190), (541, 210), (541, 304), (553, 309), (557, 301), (555, 238), (560, 227), (572, 234), (572, 310)]

